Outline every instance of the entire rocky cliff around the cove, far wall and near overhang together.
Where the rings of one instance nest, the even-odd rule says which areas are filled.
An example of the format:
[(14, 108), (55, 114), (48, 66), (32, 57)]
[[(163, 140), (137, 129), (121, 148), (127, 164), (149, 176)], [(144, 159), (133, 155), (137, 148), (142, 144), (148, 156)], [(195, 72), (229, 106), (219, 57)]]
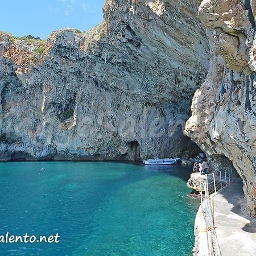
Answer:
[(236, 168), (255, 217), (255, 17), (256, 0), (106, 0), (85, 33), (0, 32), (0, 160), (141, 160), (200, 147)]

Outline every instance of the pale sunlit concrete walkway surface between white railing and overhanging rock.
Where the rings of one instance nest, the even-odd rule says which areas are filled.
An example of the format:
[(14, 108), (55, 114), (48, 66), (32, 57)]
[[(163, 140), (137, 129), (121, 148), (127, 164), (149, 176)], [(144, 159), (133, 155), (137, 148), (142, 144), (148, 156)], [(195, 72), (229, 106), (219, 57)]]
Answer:
[(214, 224), (222, 256), (256, 255), (256, 220), (243, 210), (242, 181), (213, 197)]

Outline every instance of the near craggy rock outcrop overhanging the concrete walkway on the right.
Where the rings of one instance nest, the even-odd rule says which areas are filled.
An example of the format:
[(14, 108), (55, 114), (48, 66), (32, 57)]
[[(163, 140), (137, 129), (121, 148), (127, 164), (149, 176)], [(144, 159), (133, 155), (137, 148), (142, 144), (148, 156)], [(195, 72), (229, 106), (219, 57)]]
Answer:
[(207, 79), (196, 91), (185, 132), (209, 156), (225, 155), (243, 179), (256, 214), (256, 1), (204, 0), (199, 17), (211, 48)]

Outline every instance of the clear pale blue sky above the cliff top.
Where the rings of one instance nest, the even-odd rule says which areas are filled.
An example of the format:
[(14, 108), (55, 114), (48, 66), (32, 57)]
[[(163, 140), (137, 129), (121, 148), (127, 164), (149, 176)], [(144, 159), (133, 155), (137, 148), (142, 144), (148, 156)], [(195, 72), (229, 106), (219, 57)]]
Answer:
[(0, 0), (0, 31), (46, 39), (63, 27), (87, 31), (101, 22), (105, 0)]

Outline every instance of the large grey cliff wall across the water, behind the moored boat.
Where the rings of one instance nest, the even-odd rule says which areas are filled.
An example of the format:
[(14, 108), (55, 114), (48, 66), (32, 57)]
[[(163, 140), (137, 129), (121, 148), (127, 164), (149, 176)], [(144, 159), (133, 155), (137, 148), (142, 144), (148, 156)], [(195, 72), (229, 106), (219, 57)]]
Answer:
[(208, 51), (191, 0), (107, 0), (99, 26), (52, 32), (46, 42), (1, 32), (1, 160), (191, 150), (182, 127)]

